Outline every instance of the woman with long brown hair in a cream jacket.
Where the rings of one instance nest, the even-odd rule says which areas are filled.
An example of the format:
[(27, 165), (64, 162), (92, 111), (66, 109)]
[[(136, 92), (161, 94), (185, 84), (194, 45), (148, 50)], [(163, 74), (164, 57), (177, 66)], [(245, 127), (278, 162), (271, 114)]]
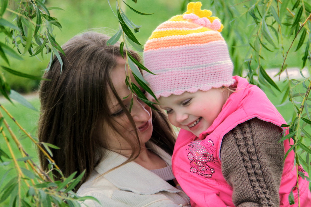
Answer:
[(66, 56), (60, 54), (62, 70), (54, 57), (44, 74), (50, 80), (40, 86), (39, 140), (60, 147), (51, 151), (65, 177), (86, 169), (75, 191), (100, 201), (86, 200), (87, 206), (188, 206), (188, 196), (174, 187), (167, 117), (132, 95), (119, 45), (107, 40), (93, 32), (73, 37), (63, 46)]

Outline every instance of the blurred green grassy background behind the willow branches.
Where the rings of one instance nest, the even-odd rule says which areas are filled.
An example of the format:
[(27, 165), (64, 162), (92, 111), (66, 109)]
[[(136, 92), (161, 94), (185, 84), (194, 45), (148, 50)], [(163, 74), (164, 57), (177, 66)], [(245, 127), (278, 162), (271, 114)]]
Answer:
[[(12, 1), (14, 2), (14, 1)], [(115, 0), (111, 0), (111, 6), (115, 10)], [(136, 10), (144, 12), (144, 13), (154, 13), (150, 16), (142, 16), (137, 13), (131, 11), (127, 7), (123, 7), (123, 11), (126, 12), (128, 17), (136, 24), (142, 25), (140, 32), (135, 33), (138, 41), (144, 44), (147, 38), (150, 36), (151, 32), (156, 28), (157, 25), (168, 20), (170, 17), (182, 14), (185, 10), (181, 10), (181, 3), (184, 2), (182, 0), (138, 0), (137, 4), (134, 4), (132, 1), (126, 1), (130, 6), (134, 7)], [(222, 19), (225, 16), (225, 12), (227, 9), (224, 8), (221, 11), (217, 11), (214, 3), (211, 5), (211, 0), (201, 0), (203, 7), (202, 9), (209, 9), (213, 12), (212, 16), (218, 16), (222, 23), (224, 24), (223, 36), (228, 42), (228, 45), (232, 45), (233, 41), (236, 42), (235, 47), (243, 47), (245, 50), (239, 54), (239, 56), (246, 56), (250, 50), (250, 46), (248, 44), (249, 36), (251, 33), (253, 26), (251, 25), (250, 19), (245, 18), (245, 16), (240, 16), (237, 19)], [(235, 1), (239, 3), (241, 1)], [(232, 12), (235, 13), (243, 13), (246, 10), (244, 5), (250, 4), (249, 2), (245, 2), (239, 6), (233, 7)], [(56, 41), (62, 45), (66, 43), (73, 36), (82, 33), (87, 30), (97, 31), (100, 33), (108, 34), (112, 36), (118, 30), (118, 20), (114, 16), (111, 11), (108, 2), (105, 0), (53, 0), (46, 2), (47, 7), (60, 7), (62, 10), (51, 10), (51, 16), (56, 17), (58, 22), (62, 25), (62, 29), (55, 28), (53, 31), (56, 34)], [(248, 5), (249, 6), (249, 5)], [(14, 9), (14, 4), (11, 4), (10, 7)], [(7, 14), (8, 15), (8, 14)], [(238, 16), (238, 15), (237, 15)], [(248, 24), (249, 22), (249, 24)], [(241, 31), (244, 31), (245, 36), (240, 36), (240, 34), (230, 33), (232, 27), (239, 27)], [(242, 33), (243, 34), (243, 33)], [(290, 39), (284, 39), (285, 49), (287, 49), (290, 45)], [(296, 44), (296, 43), (295, 43)], [(270, 46), (269, 46), (270, 47)], [(294, 45), (295, 47), (295, 45)], [(229, 48), (230, 51), (232, 48)], [(261, 64), (266, 68), (275, 68), (276, 65), (279, 65), (283, 59), (281, 58), (280, 53), (269, 53), (268, 51), (262, 51), (265, 57), (270, 57), (268, 60), (265, 60)], [(287, 64), (288, 67), (299, 67), (299, 54), (301, 51), (298, 50), (296, 53), (292, 53), (294, 55), (288, 56)], [(14, 70), (21, 71), (23, 73), (32, 74), (41, 76), (43, 74), (43, 70), (48, 65), (49, 56), (45, 56), (44, 59), (39, 59), (37, 57), (27, 57), (24, 56), (23, 61), (18, 61), (15, 59), (10, 59), (11, 68)], [(234, 57), (232, 57), (234, 59)], [(299, 61), (298, 61), (299, 60)], [(2, 60), (0, 60), (2, 61)], [(2, 63), (4, 64), (4, 63)], [(239, 70), (243, 63), (235, 63), (236, 70)], [(7, 81), (10, 83), (10, 86), (13, 90), (26, 94), (25, 97), (35, 106), (35, 108), (39, 111), (39, 99), (36, 90), (38, 89), (39, 81), (30, 80), (21, 78), (18, 76), (14, 76), (11, 74), (3, 72)], [(285, 83), (277, 82), (277, 85), (280, 89), (285, 86)], [(293, 106), (289, 101), (286, 101), (281, 106), (280, 102), (283, 97), (281, 92), (278, 92), (274, 89), (270, 90), (267, 88), (263, 88), (263, 90), (267, 93), (267, 96), (272, 101), (272, 103), (277, 107), (277, 109), (284, 116), (286, 121), (290, 121), (293, 116), (294, 110)], [(271, 93), (273, 91), (275, 94)], [(12, 105), (9, 101), (5, 100), (3, 97), (0, 98), (0, 103), (7, 108), (8, 111), (12, 114), (12, 116), (21, 124), (23, 128), (26, 129), (27, 132), (31, 133), (35, 136), (37, 121), (39, 118), (39, 112), (30, 110), (24, 106), (21, 106), (19, 103), (14, 101), (14, 105)], [(4, 117), (8, 116), (4, 114)], [(9, 119), (7, 119), (9, 120)], [(29, 152), (30, 156), (37, 157), (35, 146), (30, 142), (30, 140), (25, 135), (20, 133), (19, 128), (15, 125), (12, 120), (9, 124), (16, 135), (21, 140), (22, 145)], [(3, 141), (0, 142), (1, 148), (6, 149), (4, 147), (5, 143)], [(17, 151), (17, 147), (14, 143), (11, 143), (13, 150)], [(5, 150), (7, 153), (7, 149)], [(8, 153), (9, 154), (9, 153)], [(35, 159), (36, 160), (36, 159)], [(7, 166), (2, 166), (3, 169), (0, 171), (0, 179), (3, 174), (10, 168), (13, 167), (12, 163)], [(10, 174), (14, 174), (14, 169), (10, 171)], [(10, 177), (10, 176), (9, 176)], [(1, 188), (1, 186), (0, 186)], [(7, 203), (2, 203), (0, 206), (6, 206)]]

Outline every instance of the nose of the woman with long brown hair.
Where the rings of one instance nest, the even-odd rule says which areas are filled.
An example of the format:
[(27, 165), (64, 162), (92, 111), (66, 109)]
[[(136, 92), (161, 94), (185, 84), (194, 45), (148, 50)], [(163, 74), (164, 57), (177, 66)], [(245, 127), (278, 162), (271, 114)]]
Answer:
[(133, 106), (131, 115), (135, 122), (146, 122), (150, 119), (151, 115), (150, 107), (147, 106), (142, 100), (137, 97), (133, 97)]

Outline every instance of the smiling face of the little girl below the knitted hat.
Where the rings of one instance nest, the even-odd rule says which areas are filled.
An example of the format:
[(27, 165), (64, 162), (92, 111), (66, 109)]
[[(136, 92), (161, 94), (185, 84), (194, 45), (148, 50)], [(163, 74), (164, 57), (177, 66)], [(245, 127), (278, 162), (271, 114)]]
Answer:
[(197, 137), (207, 130), (219, 115), (228, 98), (223, 88), (160, 97), (160, 107), (167, 111), (169, 121)]

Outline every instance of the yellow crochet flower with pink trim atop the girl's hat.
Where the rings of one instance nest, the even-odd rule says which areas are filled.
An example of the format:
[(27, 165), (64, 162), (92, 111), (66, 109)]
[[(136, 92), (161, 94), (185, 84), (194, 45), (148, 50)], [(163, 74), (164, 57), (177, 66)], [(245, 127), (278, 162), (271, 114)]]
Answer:
[(216, 16), (211, 16), (210, 10), (201, 10), (201, 2), (190, 2), (187, 5), (187, 11), (183, 13), (183, 19), (192, 20), (192, 22), (207, 27), (218, 32), (222, 31), (224, 26), (220, 24), (220, 19)]

